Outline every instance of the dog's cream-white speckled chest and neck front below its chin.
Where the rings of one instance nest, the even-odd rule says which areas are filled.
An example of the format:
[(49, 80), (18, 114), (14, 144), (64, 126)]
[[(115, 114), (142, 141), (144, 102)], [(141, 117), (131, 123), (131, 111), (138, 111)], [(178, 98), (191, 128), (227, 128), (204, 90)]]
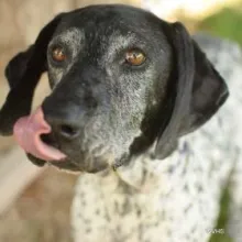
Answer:
[(100, 238), (106, 242), (206, 241), (238, 155), (229, 141), (211, 135), (218, 127), (230, 132), (218, 116), (209, 127), (182, 139), (178, 150), (164, 161), (143, 156), (119, 175), (80, 177), (73, 208), (76, 238), (87, 242)]

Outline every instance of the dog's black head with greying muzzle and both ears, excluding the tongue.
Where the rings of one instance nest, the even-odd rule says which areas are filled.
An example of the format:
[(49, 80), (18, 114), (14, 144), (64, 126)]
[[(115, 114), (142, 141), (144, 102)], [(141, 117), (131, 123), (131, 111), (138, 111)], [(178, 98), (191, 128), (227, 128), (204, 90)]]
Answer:
[(16, 120), (30, 113), (45, 70), (53, 91), (42, 110), (52, 131), (40, 135), (66, 155), (53, 164), (74, 170), (121, 165), (154, 142), (155, 156), (164, 158), (228, 97), (223, 79), (180, 23), (132, 7), (92, 6), (57, 15), (9, 63), (2, 134), (12, 134)]

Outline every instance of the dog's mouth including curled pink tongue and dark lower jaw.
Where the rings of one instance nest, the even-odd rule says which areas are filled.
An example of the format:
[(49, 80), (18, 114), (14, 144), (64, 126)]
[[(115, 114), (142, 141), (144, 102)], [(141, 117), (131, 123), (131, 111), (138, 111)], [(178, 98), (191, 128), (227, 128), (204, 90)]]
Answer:
[(25, 151), (29, 160), (37, 166), (48, 163), (62, 169), (88, 173), (97, 173), (108, 167), (105, 157), (86, 157), (84, 154), (82, 161), (75, 162), (62, 151), (58, 142), (51, 135), (51, 131), (40, 107), (29, 117), (20, 118), (16, 121), (13, 136)]

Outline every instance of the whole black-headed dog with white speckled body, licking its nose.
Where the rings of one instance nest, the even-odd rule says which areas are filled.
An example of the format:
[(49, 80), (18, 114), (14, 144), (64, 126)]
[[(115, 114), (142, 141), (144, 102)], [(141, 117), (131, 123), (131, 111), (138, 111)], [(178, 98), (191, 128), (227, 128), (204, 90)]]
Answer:
[[(241, 63), (237, 45), (145, 10), (61, 13), (9, 62), (0, 133), (35, 165), (80, 172), (75, 242), (241, 241)], [(52, 92), (31, 113), (44, 72)]]

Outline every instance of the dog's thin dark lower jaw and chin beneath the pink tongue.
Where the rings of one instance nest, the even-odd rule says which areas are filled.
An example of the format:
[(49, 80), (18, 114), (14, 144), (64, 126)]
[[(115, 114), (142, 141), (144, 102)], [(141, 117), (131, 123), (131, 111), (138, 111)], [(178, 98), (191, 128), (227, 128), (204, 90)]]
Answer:
[(95, 165), (87, 165), (82, 167), (81, 165), (78, 165), (74, 161), (69, 160), (68, 157), (63, 161), (53, 161), (53, 162), (46, 162), (41, 158), (37, 158), (33, 156), (32, 154), (26, 153), (28, 158), (36, 166), (44, 166), (45, 164), (53, 165), (59, 169), (65, 169), (69, 172), (82, 172), (82, 173), (98, 173), (107, 169), (109, 167), (108, 163), (105, 162), (98, 162)]

